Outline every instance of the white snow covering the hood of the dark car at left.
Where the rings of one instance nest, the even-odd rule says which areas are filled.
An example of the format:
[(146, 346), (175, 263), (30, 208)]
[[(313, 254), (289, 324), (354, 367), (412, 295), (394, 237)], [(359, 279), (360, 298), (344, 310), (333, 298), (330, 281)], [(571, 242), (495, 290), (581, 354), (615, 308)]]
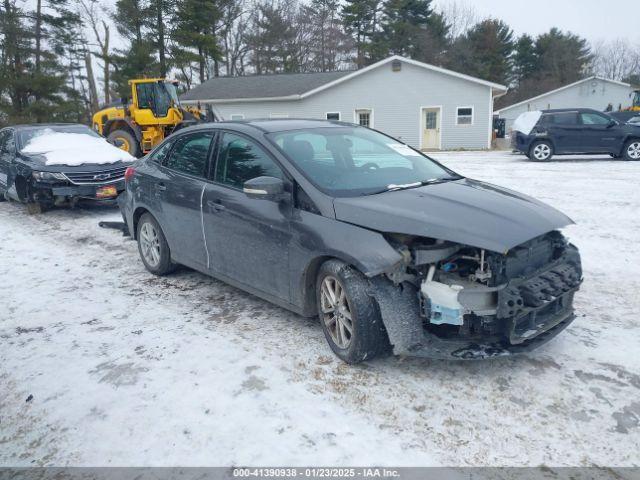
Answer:
[(135, 157), (108, 143), (104, 138), (83, 133), (55, 132), (50, 129), (33, 137), (22, 153), (45, 157), (46, 165), (86, 165), (133, 162)]

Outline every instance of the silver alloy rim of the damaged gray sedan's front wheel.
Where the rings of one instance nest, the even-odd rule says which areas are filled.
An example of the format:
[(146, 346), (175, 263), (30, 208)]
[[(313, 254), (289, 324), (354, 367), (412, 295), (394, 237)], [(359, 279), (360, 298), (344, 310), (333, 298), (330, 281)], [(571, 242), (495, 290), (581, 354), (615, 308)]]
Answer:
[(338, 348), (349, 348), (353, 336), (353, 320), (346, 292), (337, 278), (324, 278), (320, 287), (320, 303), (322, 321), (331, 340)]

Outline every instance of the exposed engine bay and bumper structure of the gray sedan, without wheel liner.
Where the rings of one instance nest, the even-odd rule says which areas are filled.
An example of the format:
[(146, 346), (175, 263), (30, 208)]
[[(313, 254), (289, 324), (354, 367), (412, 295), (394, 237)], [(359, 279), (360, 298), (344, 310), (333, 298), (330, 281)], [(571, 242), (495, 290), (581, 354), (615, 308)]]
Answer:
[(558, 231), (505, 252), (390, 235), (403, 257), (388, 278), (417, 291), (424, 331), (516, 345), (572, 312), (580, 256)]

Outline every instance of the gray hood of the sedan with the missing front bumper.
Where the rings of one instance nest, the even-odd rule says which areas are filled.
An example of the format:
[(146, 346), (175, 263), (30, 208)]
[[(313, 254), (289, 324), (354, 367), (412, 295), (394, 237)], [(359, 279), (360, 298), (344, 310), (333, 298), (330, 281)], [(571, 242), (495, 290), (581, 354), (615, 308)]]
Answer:
[(573, 221), (520, 193), (470, 179), (334, 200), (336, 218), (385, 233), (505, 253)]

